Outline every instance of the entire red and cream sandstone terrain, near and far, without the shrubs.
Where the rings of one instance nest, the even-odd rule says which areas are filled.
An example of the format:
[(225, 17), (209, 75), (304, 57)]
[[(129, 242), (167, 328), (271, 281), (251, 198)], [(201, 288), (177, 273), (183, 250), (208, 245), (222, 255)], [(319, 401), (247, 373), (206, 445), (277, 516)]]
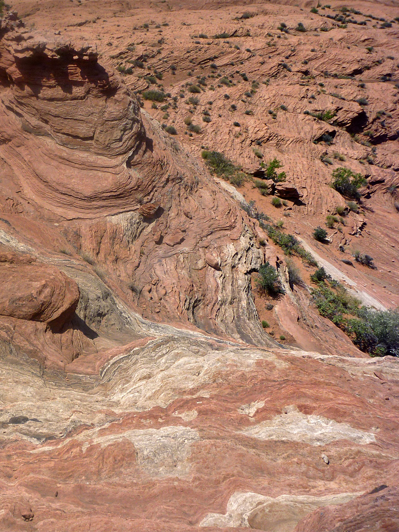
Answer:
[[(371, 5), (393, 18), (392, 6)], [(298, 37), (298, 12), (306, 10), (306, 26), (319, 16), (307, 3), (14, 7), (26, 22), (9, 9), (0, 19), (0, 529), (399, 530), (397, 359), (370, 358), (317, 313), (307, 286), (314, 268), (295, 259), (304, 282), (289, 286), (284, 253), (240, 206), (255, 199), (276, 217), (270, 198), (249, 181), (238, 190), (221, 184), (198, 156), (202, 145), (217, 149), (255, 174), (254, 146), (264, 160), (278, 156), (289, 177), (279, 193), (300, 200), (281, 211), (290, 214), (286, 227), (362, 301), (394, 306), (399, 222), (387, 190), (397, 181), (396, 108), (385, 126), (367, 115), (380, 143), (371, 165), (369, 146), (343, 130), (365, 120), (355, 81), (342, 81), (345, 101), (327, 87), (319, 94), (318, 109), (339, 100), (335, 131), (303, 115), (304, 105), (313, 109), (311, 89), (298, 93), (288, 78), (310, 69), (303, 52), (290, 71), (281, 65), (300, 49), (298, 38), (309, 51), (319, 39), (329, 46), (312, 52), (317, 69), (347, 74), (348, 46), (365, 37), (338, 27)], [(265, 45), (282, 15), (293, 21), (290, 34), (278, 30), (276, 46)], [(205, 31), (230, 37), (194, 37)], [(362, 43), (396, 54), (396, 34), (378, 28)], [(238, 48), (230, 38), (242, 39)], [(266, 49), (270, 62), (261, 59)], [(356, 55), (351, 73), (366, 60)], [(194, 107), (184, 103), (186, 88), (180, 98), (202, 68), (230, 76), (241, 61), (248, 81), (240, 84), (253, 86), (252, 96), (235, 74), (212, 97), (193, 93), (201, 99)], [(122, 63), (134, 65), (131, 74), (115, 70)], [(387, 75), (383, 64), (372, 64), (373, 76)], [(161, 103), (140, 106), (135, 92), (154, 85), (144, 65), (164, 74), (165, 94), (170, 85), (162, 113), (177, 137), (161, 127)], [(276, 85), (262, 85), (269, 72)], [(311, 70), (304, 75), (313, 83)], [(394, 84), (384, 84), (383, 96), (368, 86), (373, 109), (396, 98)], [(238, 134), (226, 125), (236, 119), (229, 106), (244, 112), (250, 99), (254, 114), (240, 115)], [(277, 99), (288, 112), (275, 119), (268, 109)], [(211, 122), (185, 135), (188, 109), (198, 123), (206, 105)], [(348, 165), (370, 178), (361, 212), (348, 213), (327, 245), (310, 235), (340, 200), (327, 186), (338, 163), (320, 161), (312, 141), (333, 129), (332, 147), (345, 147)], [(340, 262), (345, 239), (376, 250), (378, 270)], [(265, 260), (285, 287), (272, 309), (252, 276)], [(264, 331), (264, 317), (286, 346)]]

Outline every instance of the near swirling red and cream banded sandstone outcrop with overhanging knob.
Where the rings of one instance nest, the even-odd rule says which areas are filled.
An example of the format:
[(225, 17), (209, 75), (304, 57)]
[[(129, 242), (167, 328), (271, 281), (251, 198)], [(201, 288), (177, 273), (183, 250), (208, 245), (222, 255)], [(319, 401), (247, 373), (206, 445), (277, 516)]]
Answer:
[(0, 528), (399, 529), (396, 359), (305, 289), (277, 307), (317, 349), (264, 332), (276, 250), (96, 46), (4, 16), (0, 124)]

